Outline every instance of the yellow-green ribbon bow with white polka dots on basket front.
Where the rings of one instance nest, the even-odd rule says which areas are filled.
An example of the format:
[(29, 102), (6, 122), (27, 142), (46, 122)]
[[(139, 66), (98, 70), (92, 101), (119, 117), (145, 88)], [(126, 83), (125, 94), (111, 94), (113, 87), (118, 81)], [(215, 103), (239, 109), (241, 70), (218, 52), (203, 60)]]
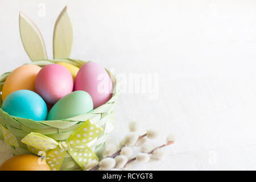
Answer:
[(82, 169), (85, 169), (88, 162), (98, 160), (87, 143), (97, 138), (102, 131), (100, 126), (88, 120), (67, 141), (56, 142), (40, 133), (30, 133), (22, 139), (22, 142), (27, 144), (28, 150), (36, 155), (42, 155), (42, 151), (46, 152), (46, 163), (52, 171), (60, 169), (66, 151)]

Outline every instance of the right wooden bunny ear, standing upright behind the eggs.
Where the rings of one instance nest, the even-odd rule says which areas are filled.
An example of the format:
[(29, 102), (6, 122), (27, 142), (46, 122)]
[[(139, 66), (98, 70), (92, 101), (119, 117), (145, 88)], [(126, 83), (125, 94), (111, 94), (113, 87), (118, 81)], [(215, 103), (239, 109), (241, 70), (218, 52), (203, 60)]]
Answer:
[(67, 6), (61, 11), (56, 20), (53, 33), (54, 59), (67, 59), (71, 53), (73, 43), (73, 29), (67, 13)]

